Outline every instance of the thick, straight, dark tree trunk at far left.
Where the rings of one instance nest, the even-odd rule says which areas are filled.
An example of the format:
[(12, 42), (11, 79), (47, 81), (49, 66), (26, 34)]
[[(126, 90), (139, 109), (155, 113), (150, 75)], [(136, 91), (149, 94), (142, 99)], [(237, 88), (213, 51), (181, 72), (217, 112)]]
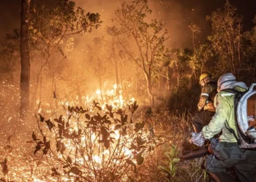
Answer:
[(29, 50), (29, 22), (30, 1), (21, 1), (20, 24), (20, 119), (25, 119), (25, 112), (29, 110), (29, 79), (30, 79), (30, 50)]

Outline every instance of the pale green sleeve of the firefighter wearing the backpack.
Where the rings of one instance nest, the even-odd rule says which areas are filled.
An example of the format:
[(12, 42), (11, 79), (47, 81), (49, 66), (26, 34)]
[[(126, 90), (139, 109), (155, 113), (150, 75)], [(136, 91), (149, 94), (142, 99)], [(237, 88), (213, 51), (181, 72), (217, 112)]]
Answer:
[(230, 105), (221, 95), (217, 95), (216, 113), (208, 125), (203, 127), (203, 136), (206, 139), (213, 138), (214, 135), (219, 134), (222, 128), (225, 127), (225, 122), (230, 116)]

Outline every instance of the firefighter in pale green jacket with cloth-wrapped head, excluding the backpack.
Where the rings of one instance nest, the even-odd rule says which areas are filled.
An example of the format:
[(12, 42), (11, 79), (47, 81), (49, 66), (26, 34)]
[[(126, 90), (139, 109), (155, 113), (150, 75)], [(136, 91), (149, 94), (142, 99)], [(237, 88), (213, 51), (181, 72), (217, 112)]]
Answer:
[[(211, 141), (210, 147), (214, 154), (207, 156), (205, 167), (214, 181), (234, 181), (226, 173), (226, 168), (230, 167), (235, 167), (239, 181), (256, 181), (256, 151), (240, 149), (236, 129), (235, 94), (225, 89), (244, 92), (247, 87), (244, 82), (236, 82), (233, 74), (222, 75), (218, 80), (218, 94), (214, 99), (216, 114), (203, 127), (202, 132), (193, 133), (190, 142), (203, 146), (206, 139)], [(214, 135), (220, 132), (219, 140), (214, 139)]]

